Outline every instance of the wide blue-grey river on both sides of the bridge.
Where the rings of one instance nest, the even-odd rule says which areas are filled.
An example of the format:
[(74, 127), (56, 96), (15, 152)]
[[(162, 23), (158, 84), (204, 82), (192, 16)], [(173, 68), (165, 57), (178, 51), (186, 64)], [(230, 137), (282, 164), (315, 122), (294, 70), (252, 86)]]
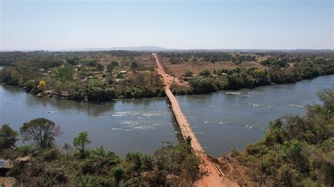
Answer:
[[(204, 150), (218, 157), (233, 147), (242, 150), (259, 141), (277, 117), (304, 115), (306, 105), (320, 103), (316, 92), (333, 86), (334, 75), (330, 75), (296, 84), (177, 98)], [(72, 144), (80, 131), (88, 132), (91, 148), (101, 145), (120, 155), (129, 151), (152, 154), (163, 142), (180, 141), (165, 98), (78, 103), (0, 86), (0, 124), (19, 130), (37, 117), (61, 126), (64, 133), (56, 138), (58, 146)]]

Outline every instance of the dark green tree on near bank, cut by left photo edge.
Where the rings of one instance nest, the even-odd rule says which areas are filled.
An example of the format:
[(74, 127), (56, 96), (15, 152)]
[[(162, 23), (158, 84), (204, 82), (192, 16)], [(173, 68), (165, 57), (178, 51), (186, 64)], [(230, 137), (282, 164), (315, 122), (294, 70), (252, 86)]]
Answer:
[(18, 133), (13, 131), (9, 124), (3, 124), (0, 129), (0, 149), (11, 148), (18, 141)]

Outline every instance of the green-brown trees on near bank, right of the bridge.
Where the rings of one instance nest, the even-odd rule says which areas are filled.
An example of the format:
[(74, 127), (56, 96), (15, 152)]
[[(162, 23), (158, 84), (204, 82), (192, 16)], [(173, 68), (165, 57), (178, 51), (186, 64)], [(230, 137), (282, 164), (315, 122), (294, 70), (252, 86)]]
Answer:
[(334, 186), (334, 90), (318, 97), (323, 105), (309, 106), (305, 117), (271, 122), (261, 141), (230, 153), (254, 186)]

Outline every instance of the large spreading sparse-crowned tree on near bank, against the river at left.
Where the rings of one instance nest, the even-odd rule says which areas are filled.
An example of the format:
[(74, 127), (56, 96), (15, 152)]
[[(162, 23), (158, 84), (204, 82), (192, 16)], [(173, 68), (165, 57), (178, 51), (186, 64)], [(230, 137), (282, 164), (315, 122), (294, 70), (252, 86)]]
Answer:
[(51, 120), (37, 118), (24, 123), (20, 128), (20, 134), (23, 141), (35, 141), (41, 148), (49, 148), (54, 142), (54, 137), (63, 132), (59, 126), (56, 126)]

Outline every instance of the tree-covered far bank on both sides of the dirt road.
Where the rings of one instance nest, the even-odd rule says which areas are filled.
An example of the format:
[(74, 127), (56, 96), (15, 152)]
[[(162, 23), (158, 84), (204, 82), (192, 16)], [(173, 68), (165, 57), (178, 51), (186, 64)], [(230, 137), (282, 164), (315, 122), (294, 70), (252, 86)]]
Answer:
[[(334, 74), (334, 56), (331, 53), (187, 51), (159, 54), (171, 63), (199, 63), (204, 66), (202, 72), (192, 70), (201, 77), (190, 81), (189, 86), (172, 86), (173, 93), (252, 89)], [(150, 53), (133, 51), (4, 52), (0, 53), (0, 63), (2, 60), (10, 66), (1, 70), (0, 82), (22, 86), (27, 92), (40, 96), (56, 95), (75, 101), (104, 102), (113, 98), (163, 96), (163, 84), (149, 56)], [(217, 61), (233, 63), (234, 69), (219, 67)], [(214, 69), (205, 67), (212, 63), (217, 64)], [(256, 66), (243, 67), (243, 63)], [(192, 76), (192, 72), (185, 71), (185, 75)], [(44, 81), (45, 86), (39, 86), (40, 81)]]

